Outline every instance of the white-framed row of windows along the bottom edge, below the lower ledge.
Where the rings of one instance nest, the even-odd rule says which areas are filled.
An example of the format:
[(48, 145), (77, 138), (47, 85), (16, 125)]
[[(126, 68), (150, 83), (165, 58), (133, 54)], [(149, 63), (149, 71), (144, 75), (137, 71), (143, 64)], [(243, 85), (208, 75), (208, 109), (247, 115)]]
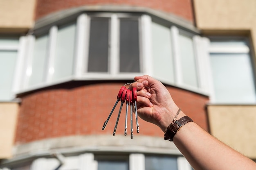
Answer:
[[(144, 155), (143, 153), (73, 153), (73, 156), (56, 153), (38, 157), (32, 163), (8, 164), (11, 170), (191, 170), (183, 156)], [(4, 170), (7, 168), (4, 168)], [(0, 169), (1, 170), (1, 169)], [(9, 170), (9, 169), (7, 169)]]

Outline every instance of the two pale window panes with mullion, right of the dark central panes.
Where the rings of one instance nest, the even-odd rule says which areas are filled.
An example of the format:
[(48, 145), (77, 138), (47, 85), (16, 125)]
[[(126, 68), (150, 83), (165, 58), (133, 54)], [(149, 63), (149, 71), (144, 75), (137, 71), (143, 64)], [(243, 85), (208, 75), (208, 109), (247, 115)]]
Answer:
[(153, 75), (164, 83), (198, 91), (195, 33), (158, 20), (153, 20), (151, 30)]

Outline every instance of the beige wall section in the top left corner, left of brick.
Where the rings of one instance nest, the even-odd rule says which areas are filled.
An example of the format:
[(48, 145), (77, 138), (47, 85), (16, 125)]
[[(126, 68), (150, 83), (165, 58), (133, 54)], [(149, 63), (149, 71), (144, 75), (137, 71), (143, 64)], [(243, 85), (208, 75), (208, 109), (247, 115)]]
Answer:
[(31, 28), (36, 0), (0, 0), (0, 28)]

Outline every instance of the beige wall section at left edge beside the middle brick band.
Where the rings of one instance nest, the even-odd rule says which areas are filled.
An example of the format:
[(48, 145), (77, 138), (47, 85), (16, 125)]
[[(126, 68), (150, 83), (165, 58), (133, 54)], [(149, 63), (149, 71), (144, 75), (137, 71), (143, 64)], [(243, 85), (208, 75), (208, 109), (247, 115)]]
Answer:
[(12, 156), (18, 103), (0, 103), (0, 159)]

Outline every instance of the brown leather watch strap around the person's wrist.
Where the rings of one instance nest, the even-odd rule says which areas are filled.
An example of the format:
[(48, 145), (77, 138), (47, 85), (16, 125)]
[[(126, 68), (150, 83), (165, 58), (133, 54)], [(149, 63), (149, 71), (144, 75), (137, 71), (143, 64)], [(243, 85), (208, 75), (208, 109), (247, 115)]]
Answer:
[(180, 129), (180, 127), (182, 127), (184, 124), (188, 122), (193, 122), (193, 120), (189, 118), (189, 116), (184, 116), (179, 120), (175, 120), (174, 122), (172, 122), (165, 129), (164, 140), (173, 141), (173, 137), (177, 133), (177, 131)]

